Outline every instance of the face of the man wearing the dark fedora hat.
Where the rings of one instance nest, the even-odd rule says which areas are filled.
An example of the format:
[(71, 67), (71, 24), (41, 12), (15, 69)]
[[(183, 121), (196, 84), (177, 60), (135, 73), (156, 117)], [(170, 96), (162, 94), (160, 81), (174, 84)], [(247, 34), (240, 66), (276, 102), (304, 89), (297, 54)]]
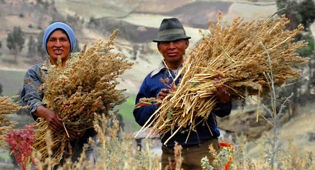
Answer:
[(157, 48), (166, 62), (178, 62), (183, 59), (183, 55), (188, 46), (188, 40), (179, 39), (170, 42), (160, 42)]

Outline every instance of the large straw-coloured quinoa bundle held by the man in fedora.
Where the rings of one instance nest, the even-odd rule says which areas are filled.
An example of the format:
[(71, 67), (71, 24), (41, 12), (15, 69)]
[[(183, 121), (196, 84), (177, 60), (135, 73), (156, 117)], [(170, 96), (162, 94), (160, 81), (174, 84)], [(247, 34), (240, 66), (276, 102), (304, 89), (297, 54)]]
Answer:
[[(184, 58), (179, 84), (171, 85), (172, 91), (163, 101), (141, 99), (160, 105), (140, 132), (152, 127), (149, 137), (179, 127), (171, 139), (182, 127), (194, 130), (207, 120), (218, 103), (215, 96), (218, 86), (229, 89), (232, 99), (245, 99), (251, 95), (266, 96), (272, 81), (280, 86), (298, 79), (301, 70), (295, 66), (305, 65), (308, 59), (300, 57), (296, 50), (307, 44), (294, 41), (303, 26), (289, 31), (288, 23), (284, 16), (251, 22), (238, 17), (231, 25), (221, 26), (219, 13), (216, 24), (209, 21), (210, 34), (203, 36)], [(218, 77), (221, 79), (216, 82)], [(197, 117), (203, 117), (203, 121), (196, 122)]]

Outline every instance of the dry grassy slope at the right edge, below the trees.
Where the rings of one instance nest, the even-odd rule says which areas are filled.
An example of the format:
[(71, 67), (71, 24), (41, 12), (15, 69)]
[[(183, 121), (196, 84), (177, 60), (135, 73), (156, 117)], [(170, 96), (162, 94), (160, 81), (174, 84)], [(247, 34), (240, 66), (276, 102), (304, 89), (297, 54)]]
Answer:
[[(293, 117), (280, 127), (277, 135), (285, 150), (289, 150), (296, 154), (306, 151), (315, 150), (315, 106), (307, 104), (298, 110), (298, 115)], [(285, 116), (284, 116), (285, 117)], [(264, 132), (267, 136), (271, 136), (273, 131)], [(266, 136), (262, 135), (258, 140), (248, 142), (248, 155), (257, 157), (264, 154), (261, 147), (266, 141)], [(291, 148), (290, 148), (291, 147)]]

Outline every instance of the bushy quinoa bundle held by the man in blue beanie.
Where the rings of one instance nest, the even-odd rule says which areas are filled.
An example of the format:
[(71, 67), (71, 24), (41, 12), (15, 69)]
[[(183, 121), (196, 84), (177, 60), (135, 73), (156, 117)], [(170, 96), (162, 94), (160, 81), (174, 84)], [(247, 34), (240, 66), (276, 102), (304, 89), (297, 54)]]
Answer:
[[(116, 105), (125, 101), (124, 90), (117, 90), (117, 77), (132, 63), (120, 53), (110, 52), (116, 30), (107, 43), (99, 40), (92, 47), (83, 47), (79, 54), (72, 54), (67, 66), (61, 68), (52, 66), (49, 76), (44, 78), (40, 87), (43, 91), (43, 103), (54, 110), (64, 124), (64, 130), (52, 132), (53, 146), (51, 159), (57, 164), (65, 150), (71, 150), (68, 131), (83, 133), (93, 127), (96, 115), (105, 114), (110, 118)], [(61, 65), (61, 60), (58, 60)], [(49, 130), (45, 119), (39, 118), (35, 124), (34, 149), (40, 153), (42, 161), (48, 157), (46, 149), (46, 134)]]

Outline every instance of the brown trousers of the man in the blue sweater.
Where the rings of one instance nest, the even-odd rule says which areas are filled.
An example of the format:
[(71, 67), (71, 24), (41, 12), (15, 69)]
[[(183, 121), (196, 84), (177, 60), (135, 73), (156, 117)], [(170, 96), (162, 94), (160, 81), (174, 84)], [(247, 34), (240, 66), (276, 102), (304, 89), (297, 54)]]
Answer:
[[(184, 148), (181, 151), (181, 156), (184, 158), (182, 163), (182, 168), (184, 170), (200, 170), (201, 168), (201, 158), (207, 156), (209, 162), (212, 163), (214, 160), (212, 154), (209, 153), (209, 145), (212, 144), (213, 148), (218, 152), (220, 150), (220, 144), (218, 139), (211, 139), (197, 146), (190, 148)], [(169, 165), (169, 158), (171, 162), (174, 162), (174, 148), (167, 148), (162, 146), (162, 170), (165, 170), (165, 167)], [(170, 168), (168, 168), (170, 169)]]

